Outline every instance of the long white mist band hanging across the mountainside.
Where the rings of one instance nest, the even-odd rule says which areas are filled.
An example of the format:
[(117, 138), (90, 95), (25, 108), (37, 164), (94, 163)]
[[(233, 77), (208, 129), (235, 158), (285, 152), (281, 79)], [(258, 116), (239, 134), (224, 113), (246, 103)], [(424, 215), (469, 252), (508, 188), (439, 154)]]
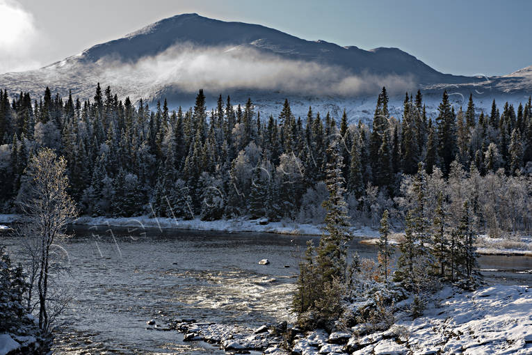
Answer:
[(415, 87), (410, 76), (354, 75), (345, 68), (290, 60), (250, 47), (177, 45), (136, 63), (122, 63), (117, 58), (106, 57), (98, 64), (104, 68), (108, 82), (119, 81), (122, 86), (136, 88), (174, 86), (188, 93), (204, 88), (211, 93), (254, 89), (351, 96), (374, 94), (382, 86), (391, 94)]

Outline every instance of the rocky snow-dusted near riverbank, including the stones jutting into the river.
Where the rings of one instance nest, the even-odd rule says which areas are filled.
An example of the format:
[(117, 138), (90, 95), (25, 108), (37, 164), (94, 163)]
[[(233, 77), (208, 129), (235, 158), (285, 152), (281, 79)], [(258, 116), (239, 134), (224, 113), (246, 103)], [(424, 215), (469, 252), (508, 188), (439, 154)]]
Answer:
[[(411, 301), (411, 300), (410, 300)], [(491, 285), (475, 292), (446, 287), (424, 315), (413, 319), (408, 300), (396, 305), (396, 321), (371, 333), (365, 324), (342, 332), (298, 333), (291, 354), (531, 354), (532, 291), (526, 286)], [(162, 320), (162, 319), (161, 319)], [(205, 341), (230, 352), (287, 354), (278, 326), (241, 329), (227, 324), (172, 321), (186, 341)], [(293, 329), (292, 331), (296, 331)], [(283, 331), (284, 332), (284, 331)]]

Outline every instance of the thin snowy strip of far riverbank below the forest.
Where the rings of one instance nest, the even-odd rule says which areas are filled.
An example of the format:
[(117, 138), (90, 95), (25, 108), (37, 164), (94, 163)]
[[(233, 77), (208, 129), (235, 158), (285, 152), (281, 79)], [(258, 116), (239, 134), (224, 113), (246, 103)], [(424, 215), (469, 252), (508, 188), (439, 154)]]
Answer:
[[(0, 214), (0, 223), (17, 223), (24, 217), (17, 214)], [(89, 217), (81, 216), (73, 224), (80, 226), (106, 226), (125, 228), (157, 228), (181, 230), (212, 230), (220, 232), (266, 232), (285, 235), (321, 235), (319, 225), (296, 223), (293, 221), (269, 222), (266, 219), (223, 219), (219, 221), (189, 221), (171, 218), (137, 217)], [(378, 242), (378, 230), (371, 227), (352, 227), (351, 233), (362, 238), (364, 244)], [(392, 233), (391, 244), (398, 244), (403, 233)], [(492, 238), (479, 235), (476, 241), (477, 253), (481, 255), (522, 255), (532, 257), (532, 237), (499, 237)]]

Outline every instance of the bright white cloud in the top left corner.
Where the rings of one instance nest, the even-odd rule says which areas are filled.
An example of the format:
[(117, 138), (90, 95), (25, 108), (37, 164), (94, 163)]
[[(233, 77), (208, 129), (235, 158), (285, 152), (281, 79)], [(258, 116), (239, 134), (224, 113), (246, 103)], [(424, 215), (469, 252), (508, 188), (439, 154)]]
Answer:
[(33, 15), (13, 0), (0, 0), (0, 73), (38, 68), (40, 47)]

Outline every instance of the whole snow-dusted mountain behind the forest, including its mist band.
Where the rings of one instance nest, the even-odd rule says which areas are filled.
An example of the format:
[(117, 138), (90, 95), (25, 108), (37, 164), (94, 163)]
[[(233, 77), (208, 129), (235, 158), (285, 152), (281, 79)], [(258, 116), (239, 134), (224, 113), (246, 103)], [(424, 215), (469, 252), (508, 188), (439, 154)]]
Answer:
[(464, 104), (469, 93), (478, 107), (489, 107), (494, 97), (524, 100), (532, 91), (532, 67), (503, 77), (454, 76), (397, 48), (340, 47), (257, 24), (184, 14), (39, 70), (0, 75), (0, 87), (33, 97), (49, 86), (61, 95), (72, 89), (74, 96), (91, 98), (97, 82), (111, 86), (120, 98), (155, 102), (166, 97), (170, 107), (188, 107), (204, 88), (209, 105), (219, 94), (231, 95), (234, 103), (251, 97), (257, 110), (276, 114), (288, 97), (296, 115), (305, 116), (312, 105), (333, 116), (346, 109), (351, 120), (365, 120), (382, 86), (389, 88), (392, 113), (401, 109), (404, 92), (417, 88), (426, 93), (429, 112), (444, 89), (456, 104)]

